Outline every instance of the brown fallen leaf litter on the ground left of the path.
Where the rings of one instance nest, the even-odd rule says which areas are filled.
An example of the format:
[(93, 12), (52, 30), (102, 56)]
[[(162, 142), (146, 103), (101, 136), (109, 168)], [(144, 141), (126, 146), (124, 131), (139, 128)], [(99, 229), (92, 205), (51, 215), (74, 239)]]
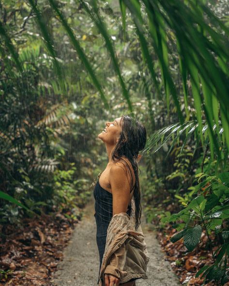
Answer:
[(50, 286), (80, 216), (59, 212), (25, 218), (20, 227), (0, 225), (0, 286)]

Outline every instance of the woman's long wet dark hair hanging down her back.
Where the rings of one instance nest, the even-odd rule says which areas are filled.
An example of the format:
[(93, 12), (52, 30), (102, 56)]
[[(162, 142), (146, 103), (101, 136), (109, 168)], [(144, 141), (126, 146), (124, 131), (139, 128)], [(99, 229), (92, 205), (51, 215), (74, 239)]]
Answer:
[[(135, 201), (135, 230), (137, 230), (141, 222), (141, 194), (139, 186), (138, 165), (137, 156), (140, 150), (145, 147), (146, 144), (146, 128), (139, 123), (136, 119), (129, 115), (122, 115), (120, 121), (122, 132), (116, 146), (112, 152), (111, 158), (113, 162), (122, 161), (131, 177), (131, 191), (134, 189), (134, 201)], [(133, 176), (129, 164), (123, 157), (126, 157), (134, 170), (135, 185), (133, 184)], [(130, 192), (131, 192), (130, 191)]]

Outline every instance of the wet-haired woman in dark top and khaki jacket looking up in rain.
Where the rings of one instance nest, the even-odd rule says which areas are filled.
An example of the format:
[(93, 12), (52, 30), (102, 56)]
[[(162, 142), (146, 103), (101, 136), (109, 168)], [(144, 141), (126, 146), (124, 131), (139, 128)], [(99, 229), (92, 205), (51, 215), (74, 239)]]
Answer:
[[(140, 155), (138, 155), (138, 152), (144, 148), (146, 143), (146, 129), (142, 124), (140, 124), (137, 120), (134, 120), (132, 117), (128, 115), (122, 115), (122, 117), (115, 119), (113, 122), (107, 122), (105, 129), (98, 135), (98, 138), (105, 143), (108, 155), (107, 167), (104, 172), (99, 176), (99, 179), (94, 187), (94, 216), (97, 225), (96, 241), (100, 256), (99, 269), (101, 270), (103, 256), (105, 254), (105, 248), (107, 250), (108, 247), (106, 245), (107, 228), (108, 226), (108, 229), (112, 227), (113, 224), (111, 225), (111, 222), (114, 223), (113, 221), (115, 219), (116, 222), (117, 220), (121, 219), (121, 221), (118, 223), (119, 226), (121, 225), (121, 223), (123, 224), (124, 221), (126, 224), (128, 224), (127, 217), (130, 218), (132, 215), (132, 217), (134, 216), (135, 219), (135, 230), (141, 230), (141, 228), (139, 228), (141, 206), (137, 161), (140, 159)], [(134, 198), (134, 202), (132, 200), (132, 196)], [(124, 218), (122, 217), (123, 213)], [(123, 224), (123, 226), (125, 225)], [(122, 230), (124, 230), (123, 227), (120, 228), (118, 232)], [(112, 229), (109, 231), (110, 233), (114, 232), (114, 230)], [(149, 257), (145, 255), (146, 245), (144, 241), (141, 240), (141, 242), (138, 241), (138, 243), (140, 246), (143, 245), (145, 253), (142, 252), (138, 255), (138, 253), (135, 251), (136, 255), (140, 257), (141, 265), (138, 268), (135, 267), (135, 269), (131, 271), (132, 273), (128, 274), (128, 271), (126, 271), (126, 265), (124, 265), (122, 259), (127, 253), (127, 241), (134, 241), (134, 237), (130, 235), (130, 231), (129, 233), (128, 231), (124, 231), (121, 233), (126, 235), (126, 238), (128, 239), (125, 238), (125, 243), (122, 243), (122, 247), (116, 250), (113, 256), (111, 256), (111, 258), (109, 259), (110, 265), (105, 265), (105, 267), (107, 266), (104, 271), (105, 286), (135, 286), (136, 279), (148, 278), (145, 274), (145, 270)], [(143, 234), (141, 232), (134, 232), (132, 230), (131, 233), (137, 234), (138, 236), (140, 234), (140, 236), (143, 237)], [(115, 237), (113, 236), (112, 240), (114, 238)], [(145, 263), (145, 265), (142, 265), (142, 256), (145, 257), (145, 260), (143, 260), (143, 263)], [(134, 259), (133, 257), (131, 259)], [(122, 280), (123, 276), (134, 278), (121, 284), (120, 280)], [(125, 280), (126, 279), (124, 279), (124, 281)]]

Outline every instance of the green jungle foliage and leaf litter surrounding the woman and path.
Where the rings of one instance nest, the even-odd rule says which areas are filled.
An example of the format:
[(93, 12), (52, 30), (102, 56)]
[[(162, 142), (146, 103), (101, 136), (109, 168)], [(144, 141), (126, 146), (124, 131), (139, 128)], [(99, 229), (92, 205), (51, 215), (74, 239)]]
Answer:
[(48, 283), (130, 114), (174, 271), (229, 285), (228, 47), (227, 0), (0, 0), (0, 284)]

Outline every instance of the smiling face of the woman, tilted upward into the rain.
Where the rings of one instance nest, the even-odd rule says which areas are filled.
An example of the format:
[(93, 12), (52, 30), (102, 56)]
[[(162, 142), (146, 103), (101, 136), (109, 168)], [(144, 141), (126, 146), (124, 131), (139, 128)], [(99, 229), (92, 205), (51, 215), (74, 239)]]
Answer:
[(116, 145), (122, 132), (122, 127), (120, 123), (121, 117), (116, 118), (112, 122), (107, 121), (106, 127), (101, 133), (99, 133), (98, 138), (101, 139), (104, 143)]

